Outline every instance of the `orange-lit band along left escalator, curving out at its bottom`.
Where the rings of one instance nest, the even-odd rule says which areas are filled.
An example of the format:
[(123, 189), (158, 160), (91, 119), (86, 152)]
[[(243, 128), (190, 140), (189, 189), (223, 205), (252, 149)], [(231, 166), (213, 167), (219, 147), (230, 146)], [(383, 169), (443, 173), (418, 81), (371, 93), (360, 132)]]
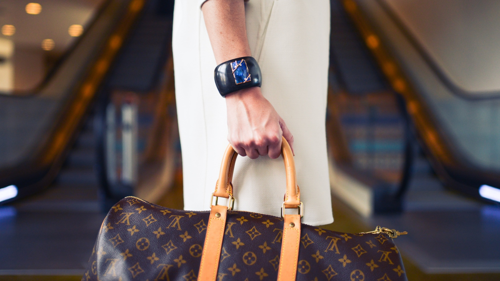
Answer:
[[(40, 152), (33, 157), (34, 160), (0, 169), (0, 186), (3, 186), (2, 183), (18, 186), (19, 195), (12, 199), (28, 195), (21, 194), (23, 190), (21, 187), (25, 187), (24, 190), (38, 190), (55, 178), (69, 144), (74, 140), (77, 129), (96, 95), (98, 87), (106, 76), (124, 38), (133, 26), (133, 22), (141, 12), (144, 2), (145, 0), (128, 1), (126, 11), (114, 25), (113, 31), (103, 43), (104, 47), (91, 63), (91, 67), (84, 72), (70, 100), (63, 106), (61, 113), (56, 118), (55, 129), (50, 131), (48, 140)], [(26, 193), (26, 191), (23, 192)], [(10, 200), (0, 203), (8, 201)]]

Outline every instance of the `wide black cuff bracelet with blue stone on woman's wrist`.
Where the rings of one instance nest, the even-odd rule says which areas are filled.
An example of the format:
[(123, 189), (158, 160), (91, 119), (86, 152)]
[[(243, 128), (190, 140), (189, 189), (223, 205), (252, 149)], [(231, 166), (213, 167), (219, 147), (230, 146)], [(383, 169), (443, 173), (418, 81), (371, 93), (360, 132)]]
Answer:
[(262, 84), (262, 74), (255, 58), (243, 56), (222, 62), (215, 67), (215, 85), (221, 96)]

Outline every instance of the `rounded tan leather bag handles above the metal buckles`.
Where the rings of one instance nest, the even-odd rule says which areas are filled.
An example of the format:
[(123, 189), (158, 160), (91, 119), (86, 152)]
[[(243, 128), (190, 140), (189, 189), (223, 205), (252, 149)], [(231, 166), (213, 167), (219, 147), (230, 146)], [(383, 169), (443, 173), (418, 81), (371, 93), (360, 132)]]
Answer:
[[(232, 196), (232, 173), (234, 171), (234, 163), (238, 153), (234, 151), (229, 144), (225, 149), (222, 163), (220, 165), (219, 177), (215, 185), (214, 196), (229, 198)], [(296, 184), (295, 179), (295, 162), (293, 161), (293, 153), (291, 152), (290, 145), (283, 137), (281, 141), (281, 155), (286, 172), (286, 193), (284, 195), (285, 208), (296, 208), (300, 205), (300, 190)]]

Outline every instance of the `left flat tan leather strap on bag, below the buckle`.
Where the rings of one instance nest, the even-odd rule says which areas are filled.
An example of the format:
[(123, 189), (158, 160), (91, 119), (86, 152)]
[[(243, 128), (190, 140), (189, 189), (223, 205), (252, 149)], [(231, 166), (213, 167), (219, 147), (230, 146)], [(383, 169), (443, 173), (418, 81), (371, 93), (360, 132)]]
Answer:
[[(218, 215), (217, 215), (218, 214)], [(220, 248), (224, 235), (227, 207), (213, 205), (206, 227), (205, 243), (199, 264), (198, 281), (215, 281), (220, 258)]]

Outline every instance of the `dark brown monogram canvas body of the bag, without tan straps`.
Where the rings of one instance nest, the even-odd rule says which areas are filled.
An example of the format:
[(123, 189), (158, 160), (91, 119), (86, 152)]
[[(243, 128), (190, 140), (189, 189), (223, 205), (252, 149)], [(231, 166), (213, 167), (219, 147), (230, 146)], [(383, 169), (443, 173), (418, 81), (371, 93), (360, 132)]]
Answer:
[[(195, 281), (209, 211), (175, 210), (135, 197), (107, 214), (82, 280)], [(276, 280), (283, 219), (228, 211), (218, 281)], [(399, 281), (404, 267), (385, 233), (301, 225), (296, 280)]]

